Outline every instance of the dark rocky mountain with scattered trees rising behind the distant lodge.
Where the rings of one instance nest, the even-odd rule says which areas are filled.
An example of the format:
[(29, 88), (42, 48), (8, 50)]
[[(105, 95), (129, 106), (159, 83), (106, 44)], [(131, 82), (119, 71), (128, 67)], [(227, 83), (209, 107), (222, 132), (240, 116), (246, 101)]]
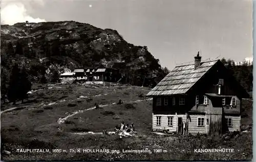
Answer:
[(75, 21), (2, 25), (1, 59), (3, 72), (10, 72), (17, 62), (34, 82), (53, 71), (62, 73), (96, 62), (109, 67), (123, 62), (125, 66), (119, 68), (134, 85), (141, 85), (145, 76), (164, 75), (159, 60), (146, 47), (127, 43), (115, 30)]

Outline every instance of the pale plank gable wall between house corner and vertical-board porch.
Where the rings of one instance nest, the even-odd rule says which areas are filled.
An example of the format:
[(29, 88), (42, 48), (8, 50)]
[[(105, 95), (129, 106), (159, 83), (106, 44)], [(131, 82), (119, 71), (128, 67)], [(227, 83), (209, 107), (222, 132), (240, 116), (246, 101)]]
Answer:
[(190, 119), (191, 119), (191, 122), (188, 121), (188, 133), (191, 133), (191, 134), (197, 134), (198, 132), (200, 134), (204, 134), (205, 133), (205, 123), (206, 123), (206, 120), (204, 121), (204, 126), (203, 127), (198, 127), (197, 126), (197, 118), (200, 117), (200, 118), (204, 118), (205, 120), (205, 115), (202, 115), (202, 114), (190, 114)]

